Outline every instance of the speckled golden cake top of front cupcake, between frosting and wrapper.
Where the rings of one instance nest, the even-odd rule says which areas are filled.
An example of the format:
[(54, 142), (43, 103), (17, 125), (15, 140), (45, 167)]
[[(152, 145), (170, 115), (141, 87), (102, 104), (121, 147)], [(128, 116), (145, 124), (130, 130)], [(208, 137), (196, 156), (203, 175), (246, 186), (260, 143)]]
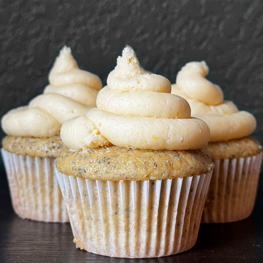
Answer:
[(118, 146), (66, 150), (57, 157), (59, 172), (92, 180), (163, 180), (206, 173), (213, 162), (202, 150), (141, 150)]

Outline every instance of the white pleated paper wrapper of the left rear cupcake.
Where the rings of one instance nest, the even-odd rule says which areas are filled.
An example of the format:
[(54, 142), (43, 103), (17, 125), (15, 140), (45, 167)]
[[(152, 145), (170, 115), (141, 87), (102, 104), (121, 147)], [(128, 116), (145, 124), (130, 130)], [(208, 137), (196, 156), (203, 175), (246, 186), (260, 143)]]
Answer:
[(21, 218), (69, 222), (55, 169), (55, 158), (31, 157), (1, 149), (11, 201)]

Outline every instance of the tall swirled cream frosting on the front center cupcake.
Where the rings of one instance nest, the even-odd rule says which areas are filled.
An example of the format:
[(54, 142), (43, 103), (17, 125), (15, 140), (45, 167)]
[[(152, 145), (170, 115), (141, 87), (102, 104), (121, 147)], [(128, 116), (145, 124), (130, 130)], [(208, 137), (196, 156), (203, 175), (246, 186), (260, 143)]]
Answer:
[[(69, 148), (113, 145), (152, 150), (199, 149), (209, 128), (190, 117), (187, 101), (170, 94), (163, 76), (142, 71), (131, 47), (123, 49), (97, 97), (97, 108), (66, 121), (61, 138)], [(81, 137), (81, 138), (79, 138)]]

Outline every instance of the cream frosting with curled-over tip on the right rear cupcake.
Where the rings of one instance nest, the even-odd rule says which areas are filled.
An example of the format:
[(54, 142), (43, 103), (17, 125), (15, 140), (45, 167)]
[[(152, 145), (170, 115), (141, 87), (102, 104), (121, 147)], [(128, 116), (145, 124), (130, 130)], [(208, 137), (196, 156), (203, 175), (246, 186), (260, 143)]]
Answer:
[(233, 102), (224, 100), (221, 88), (207, 80), (207, 74), (208, 67), (204, 61), (187, 63), (178, 72), (171, 93), (185, 98), (192, 116), (208, 124), (210, 142), (250, 135), (256, 128), (255, 117), (238, 111)]

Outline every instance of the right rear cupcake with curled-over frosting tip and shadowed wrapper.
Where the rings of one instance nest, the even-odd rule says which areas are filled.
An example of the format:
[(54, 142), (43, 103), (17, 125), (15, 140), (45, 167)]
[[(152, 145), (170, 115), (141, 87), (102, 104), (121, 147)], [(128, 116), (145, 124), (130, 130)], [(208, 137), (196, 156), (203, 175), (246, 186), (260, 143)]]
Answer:
[(193, 117), (210, 128), (203, 150), (215, 163), (202, 216), (203, 223), (225, 223), (250, 216), (255, 204), (262, 162), (262, 147), (250, 137), (256, 128), (251, 113), (224, 100), (218, 85), (205, 78), (204, 61), (189, 62), (176, 77), (172, 93), (184, 97)]

